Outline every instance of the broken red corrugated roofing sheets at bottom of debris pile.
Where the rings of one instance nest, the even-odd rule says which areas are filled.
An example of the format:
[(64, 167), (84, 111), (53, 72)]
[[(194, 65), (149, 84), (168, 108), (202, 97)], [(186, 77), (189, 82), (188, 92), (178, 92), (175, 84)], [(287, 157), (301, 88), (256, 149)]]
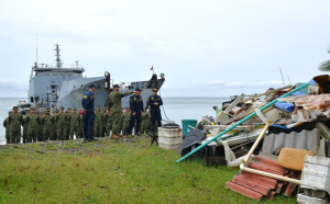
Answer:
[[(255, 156), (251, 159), (248, 167), (276, 174), (283, 174), (288, 178), (296, 174), (295, 171), (280, 167), (277, 161), (262, 156)], [(296, 189), (296, 185), (290, 185), (284, 181), (241, 171), (239, 175), (233, 178), (232, 181), (228, 181), (226, 183), (226, 188), (257, 201), (261, 201), (263, 196), (272, 201), (276, 193), (280, 193), (285, 189), (287, 190), (286, 194), (290, 195), (290, 193)]]

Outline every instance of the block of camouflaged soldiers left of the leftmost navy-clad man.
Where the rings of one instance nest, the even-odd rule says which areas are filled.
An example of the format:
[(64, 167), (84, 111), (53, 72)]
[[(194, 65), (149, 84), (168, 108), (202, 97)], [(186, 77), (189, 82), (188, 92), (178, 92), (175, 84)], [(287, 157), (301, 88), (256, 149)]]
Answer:
[(77, 138), (82, 137), (82, 115), (77, 113), (77, 109), (69, 107), (64, 112), (62, 106), (59, 111), (51, 114), (51, 109), (45, 112), (36, 113), (35, 107), (25, 112), (25, 116), (18, 113), (18, 106), (9, 112), (3, 121), (6, 127), (7, 144), (21, 143), (21, 126), (23, 126), (23, 143), (44, 141), (44, 140), (68, 140), (74, 135)]

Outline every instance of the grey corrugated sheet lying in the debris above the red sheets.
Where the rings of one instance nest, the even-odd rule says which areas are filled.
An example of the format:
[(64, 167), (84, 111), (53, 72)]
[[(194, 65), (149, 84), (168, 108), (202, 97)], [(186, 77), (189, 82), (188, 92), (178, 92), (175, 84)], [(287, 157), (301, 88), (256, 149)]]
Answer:
[(315, 150), (320, 146), (320, 132), (318, 128), (312, 131), (292, 132), (290, 134), (271, 134), (264, 137), (263, 152), (273, 154), (275, 149), (290, 147), (296, 149)]

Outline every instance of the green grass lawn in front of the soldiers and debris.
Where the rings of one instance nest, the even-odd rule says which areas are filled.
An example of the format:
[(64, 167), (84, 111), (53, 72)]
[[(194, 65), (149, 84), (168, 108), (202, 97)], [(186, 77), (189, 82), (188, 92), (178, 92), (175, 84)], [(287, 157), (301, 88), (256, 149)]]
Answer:
[(178, 158), (150, 146), (150, 138), (3, 147), (0, 203), (258, 203), (224, 189), (238, 168), (176, 163)]

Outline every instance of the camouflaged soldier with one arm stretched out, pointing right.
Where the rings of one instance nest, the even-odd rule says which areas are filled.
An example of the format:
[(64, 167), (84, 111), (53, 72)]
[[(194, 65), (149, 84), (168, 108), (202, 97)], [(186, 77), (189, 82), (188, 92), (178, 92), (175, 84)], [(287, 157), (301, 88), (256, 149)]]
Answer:
[(119, 129), (119, 124), (120, 124), (120, 118), (121, 118), (120, 117), (121, 98), (130, 95), (130, 94), (132, 94), (134, 92), (133, 91), (119, 92), (119, 86), (118, 84), (113, 86), (113, 91), (109, 94), (108, 104), (107, 104), (108, 105), (108, 110), (110, 107), (112, 107), (113, 124), (112, 124), (111, 138), (118, 139), (119, 137), (122, 137), (122, 135), (120, 135), (120, 129)]

